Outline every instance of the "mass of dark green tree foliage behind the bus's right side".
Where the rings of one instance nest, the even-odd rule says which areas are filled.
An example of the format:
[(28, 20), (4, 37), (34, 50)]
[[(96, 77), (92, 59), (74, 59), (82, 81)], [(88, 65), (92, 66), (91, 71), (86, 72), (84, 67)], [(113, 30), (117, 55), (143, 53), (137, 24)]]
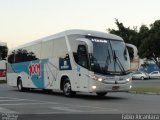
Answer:
[[(141, 25), (139, 31), (137, 27), (125, 27), (118, 19), (115, 24), (118, 30), (108, 29), (110, 33), (121, 36), (126, 43), (135, 45), (141, 58), (153, 59), (160, 68), (160, 20), (156, 20), (150, 28)], [(129, 53), (132, 54), (131, 50)]]

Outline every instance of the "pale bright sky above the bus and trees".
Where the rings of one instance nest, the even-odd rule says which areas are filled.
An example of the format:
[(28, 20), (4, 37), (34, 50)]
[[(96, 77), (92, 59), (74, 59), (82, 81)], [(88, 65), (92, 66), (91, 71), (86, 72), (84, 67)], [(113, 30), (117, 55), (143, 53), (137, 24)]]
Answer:
[(0, 0), (0, 41), (9, 48), (68, 29), (107, 32), (149, 26), (160, 19), (160, 0)]

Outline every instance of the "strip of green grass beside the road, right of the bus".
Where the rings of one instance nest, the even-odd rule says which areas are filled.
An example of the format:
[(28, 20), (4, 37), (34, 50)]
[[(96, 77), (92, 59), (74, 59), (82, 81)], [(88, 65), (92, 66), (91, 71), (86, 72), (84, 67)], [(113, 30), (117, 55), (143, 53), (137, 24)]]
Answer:
[(160, 87), (135, 87), (130, 92), (160, 94)]

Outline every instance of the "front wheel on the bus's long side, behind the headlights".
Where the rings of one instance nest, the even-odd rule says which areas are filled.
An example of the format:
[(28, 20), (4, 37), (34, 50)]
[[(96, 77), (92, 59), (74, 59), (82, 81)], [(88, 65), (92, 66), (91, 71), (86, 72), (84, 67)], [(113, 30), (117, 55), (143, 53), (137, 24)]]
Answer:
[(63, 94), (66, 97), (72, 97), (72, 96), (75, 95), (75, 92), (73, 92), (72, 89), (71, 89), (71, 83), (70, 83), (69, 79), (66, 79), (63, 82)]

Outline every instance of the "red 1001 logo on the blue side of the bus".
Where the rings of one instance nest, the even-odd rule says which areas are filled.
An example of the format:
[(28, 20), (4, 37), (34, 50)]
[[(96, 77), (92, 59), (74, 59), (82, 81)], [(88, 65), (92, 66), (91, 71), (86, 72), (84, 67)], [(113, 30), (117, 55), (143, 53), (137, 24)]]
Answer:
[(30, 64), (29, 65), (29, 74), (41, 76), (41, 64)]

